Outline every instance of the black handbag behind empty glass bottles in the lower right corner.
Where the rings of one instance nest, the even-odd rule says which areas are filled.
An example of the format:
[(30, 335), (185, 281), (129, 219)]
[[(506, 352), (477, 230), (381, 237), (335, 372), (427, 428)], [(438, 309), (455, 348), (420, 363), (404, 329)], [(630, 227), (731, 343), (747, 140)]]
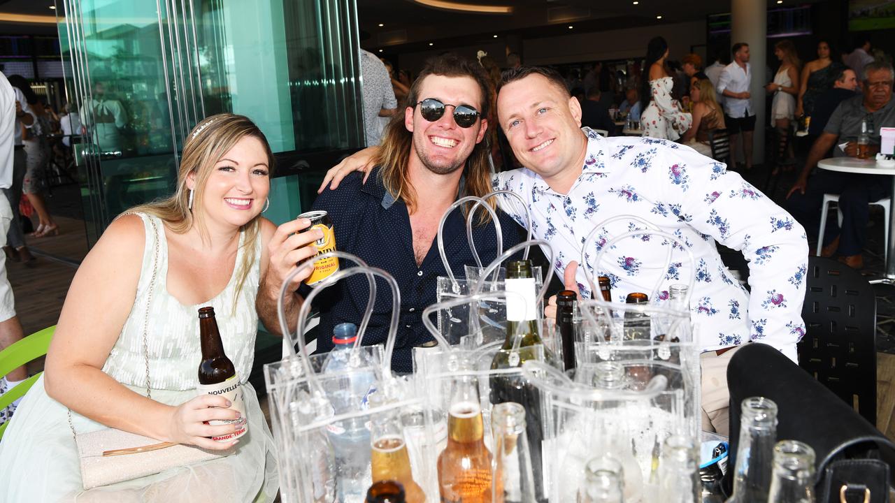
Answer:
[(817, 503), (887, 503), (895, 444), (811, 374), (770, 345), (748, 344), (730, 360), (730, 493), (737, 463), (740, 404), (765, 396), (778, 407), (777, 439), (814, 448)]

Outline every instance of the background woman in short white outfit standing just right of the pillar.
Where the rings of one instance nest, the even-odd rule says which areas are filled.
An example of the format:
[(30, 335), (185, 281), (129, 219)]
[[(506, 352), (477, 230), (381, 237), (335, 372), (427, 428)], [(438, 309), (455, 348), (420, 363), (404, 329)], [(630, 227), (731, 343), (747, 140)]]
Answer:
[[(779, 160), (792, 158), (792, 143), (788, 142), (790, 134), (789, 125), (796, 114), (796, 98), (798, 96), (798, 72), (802, 63), (798, 59), (796, 45), (789, 39), (783, 39), (774, 44), (774, 55), (780, 61), (780, 69), (774, 75), (774, 81), (764, 86), (769, 93), (773, 93), (771, 101), (771, 126), (777, 130), (780, 139)], [(783, 146), (789, 144), (788, 151), (780, 151)], [(778, 163), (780, 164), (780, 163)]]

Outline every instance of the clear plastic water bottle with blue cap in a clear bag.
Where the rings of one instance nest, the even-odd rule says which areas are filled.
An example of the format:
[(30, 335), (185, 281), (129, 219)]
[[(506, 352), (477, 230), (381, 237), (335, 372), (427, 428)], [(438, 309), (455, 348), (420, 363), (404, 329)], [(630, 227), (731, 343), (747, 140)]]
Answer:
[[(375, 390), (376, 376), (364, 355), (352, 354), (357, 340), (354, 323), (333, 328), (333, 350), (323, 363), (323, 385), (336, 415), (368, 408), (367, 399)], [(327, 435), (336, 455), (337, 501), (362, 503), (371, 481), (370, 424), (366, 417), (333, 422)]]

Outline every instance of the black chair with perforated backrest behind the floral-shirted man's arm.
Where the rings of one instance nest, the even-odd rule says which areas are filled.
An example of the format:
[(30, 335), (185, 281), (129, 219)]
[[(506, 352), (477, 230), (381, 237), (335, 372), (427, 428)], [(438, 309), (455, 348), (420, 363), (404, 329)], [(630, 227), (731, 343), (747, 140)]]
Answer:
[(809, 257), (798, 364), (876, 424), (876, 295), (845, 264)]

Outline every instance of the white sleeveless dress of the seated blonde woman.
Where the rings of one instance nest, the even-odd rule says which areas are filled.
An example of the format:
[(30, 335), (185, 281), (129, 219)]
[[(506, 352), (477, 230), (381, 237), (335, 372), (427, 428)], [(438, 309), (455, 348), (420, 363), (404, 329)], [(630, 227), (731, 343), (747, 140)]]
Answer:
[[(152, 399), (180, 405), (196, 396), (197, 371), (201, 358), (198, 309), (215, 308), (217, 326), (227, 356), (243, 383), (248, 433), (240, 439), (235, 454), (199, 465), (178, 467), (141, 479), (84, 491), (78, 451), (68, 424), (66, 407), (47, 396), (41, 377), (22, 399), (0, 442), (0, 501), (180, 501), (245, 502), (272, 501), (277, 495), (277, 456), (273, 437), (258, 405), (258, 396), (247, 382), (254, 359), (258, 315), (260, 262), (251, 265), (240, 290), (236, 290), (240, 248), (233, 277), (208, 302), (183, 305), (167, 293), (167, 243), (164, 227), (156, 217), (141, 215), (146, 245), (140, 281), (133, 308), (121, 335), (108, 355), (103, 371), (133, 391), (146, 395), (146, 363), (143, 351), (143, 320), (149, 311), (147, 332), (149, 379)], [(158, 234), (149, 219), (154, 219)], [(155, 283), (152, 262), (158, 240), (159, 256)], [(255, 243), (260, 257), (260, 238)], [(149, 289), (153, 290), (149, 303)], [(72, 412), (78, 433), (104, 426)]]

